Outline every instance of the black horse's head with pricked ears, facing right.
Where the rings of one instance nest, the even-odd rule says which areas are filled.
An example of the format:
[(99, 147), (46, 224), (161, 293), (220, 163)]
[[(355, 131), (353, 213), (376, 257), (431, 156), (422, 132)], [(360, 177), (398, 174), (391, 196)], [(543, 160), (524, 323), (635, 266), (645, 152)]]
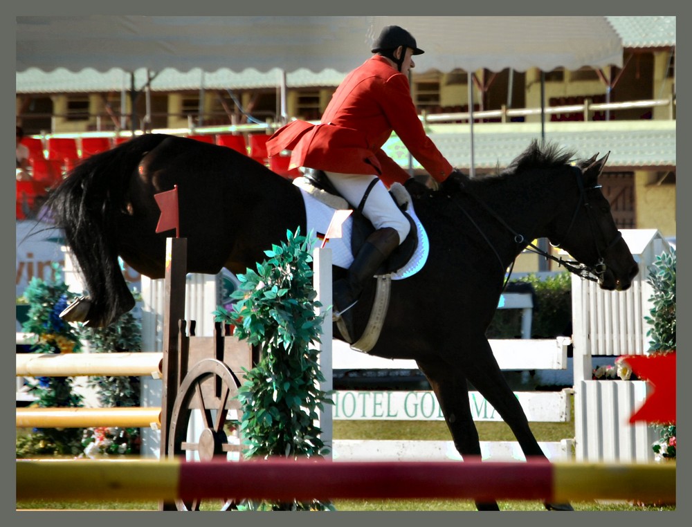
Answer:
[(602, 289), (626, 290), (639, 266), (622, 239), (610, 203), (598, 184), (608, 154), (598, 160), (597, 156), (574, 167), (579, 187), (576, 206), (564, 207), (558, 214), (549, 239), (583, 264)]

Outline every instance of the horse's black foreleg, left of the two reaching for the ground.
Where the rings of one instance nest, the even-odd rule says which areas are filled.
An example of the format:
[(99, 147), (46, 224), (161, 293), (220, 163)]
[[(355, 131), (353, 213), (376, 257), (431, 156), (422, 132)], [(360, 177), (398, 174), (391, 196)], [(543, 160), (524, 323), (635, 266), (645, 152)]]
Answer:
[[(462, 454), (464, 459), (480, 459), (480, 441), (471, 416), (471, 407), (468, 405), (466, 377), (458, 369), (443, 362), (418, 361), (418, 366), (435, 391), (437, 403), (442, 409), (459, 454)], [(476, 501), (475, 506), (478, 510), (500, 510), (496, 501)]]

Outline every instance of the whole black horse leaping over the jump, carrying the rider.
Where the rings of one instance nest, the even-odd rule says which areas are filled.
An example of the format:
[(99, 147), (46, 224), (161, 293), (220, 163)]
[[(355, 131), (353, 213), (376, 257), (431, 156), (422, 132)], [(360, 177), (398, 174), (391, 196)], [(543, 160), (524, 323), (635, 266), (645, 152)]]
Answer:
[[(511, 427), (527, 459), (545, 459), (485, 336), (507, 268), (520, 252), (546, 237), (581, 262), (566, 264), (570, 270), (606, 290), (626, 290), (637, 274), (599, 189), (607, 156), (572, 164), (573, 157), (534, 141), (503, 172), (470, 178), (460, 192), (436, 191), (414, 201), (428, 233), (429, 257), (415, 275), (392, 284), (390, 308), (370, 353), (416, 360), (467, 459), (481, 453), (467, 382)], [(154, 194), (174, 185), (189, 272), (213, 274), (223, 266), (245, 272), (287, 230), (307, 232), (300, 190), (251, 158), (173, 136), (130, 140), (84, 160), (48, 202), (82, 271), (89, 325), (109, 324), (134, 306), (118, 256), (143, 275), (164, 276), (170, 233), (155, 232), (160, 210)], [(356, 331), (366, 324), (366, 304), (356, 304)], [(340, 338), (336, 325), (334, 335)], [(494, 501), (477, 507), (498, 508)]]

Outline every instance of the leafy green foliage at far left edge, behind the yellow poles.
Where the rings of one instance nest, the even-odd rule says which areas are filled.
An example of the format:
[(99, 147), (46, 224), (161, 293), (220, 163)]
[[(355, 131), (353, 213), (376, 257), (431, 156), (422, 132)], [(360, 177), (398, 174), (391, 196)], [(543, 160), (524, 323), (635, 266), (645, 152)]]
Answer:
[[(24, 290), (29, 304), (28, 319), (22, 330), (30, 333), (32, 353), (75, 353), (81, 351), (80, 329), (64, 322), (60, 313), (76, 297), (62, 280), (57, 264), (53, 279), (33, 277)], [(30, 393), (36, 396), (33, 406), (80, 407), (82, 396), (73, 391), (71, 377), (39, 377), (26, 380)], [(81, 450), (82, 429), (36, 428), (17, 439), (17, 457), (30, 455), (75, 455)]]

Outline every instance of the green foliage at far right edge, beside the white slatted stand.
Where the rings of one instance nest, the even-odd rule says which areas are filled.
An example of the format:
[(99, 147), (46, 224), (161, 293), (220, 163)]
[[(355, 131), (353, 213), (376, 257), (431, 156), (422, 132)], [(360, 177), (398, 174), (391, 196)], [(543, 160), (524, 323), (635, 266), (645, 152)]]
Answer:
[[(671, 247), (670, 252), (662, 252), (648, 267), (646, 281), (653, 288), (649, 298), (652, 307), (650, 316), (644, 317), (650, 324), (646, 335), (650, 337), (649, 353), (675, 353), (676, 338), (676, 288), (677, 252)], [(656, 459), (677, 458), (677, 431), (675, 423), (655, 425), (659, 439), (653, 444)]]

